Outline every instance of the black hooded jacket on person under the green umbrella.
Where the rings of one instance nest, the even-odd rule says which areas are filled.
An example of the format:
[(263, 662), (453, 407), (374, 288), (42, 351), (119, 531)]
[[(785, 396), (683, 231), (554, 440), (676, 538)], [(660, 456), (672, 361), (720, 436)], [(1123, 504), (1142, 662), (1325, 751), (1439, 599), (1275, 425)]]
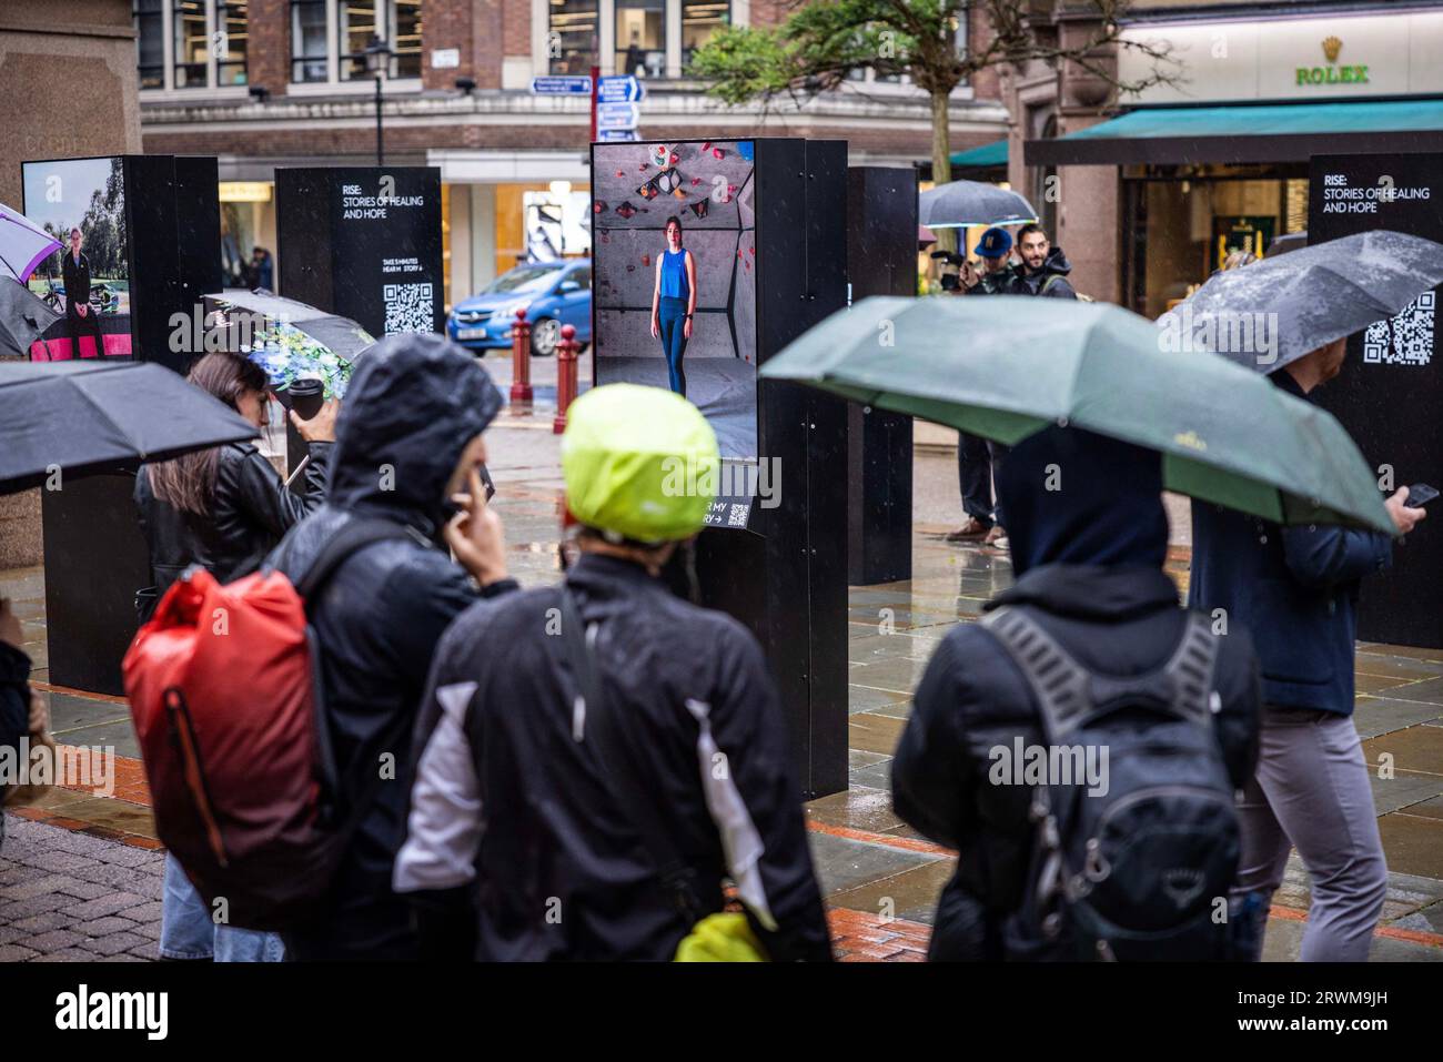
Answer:
[[(1048, 489), (1053, 486), (1055, 489)], [(1162, 570), (1167, 515), (1156, 453), (1076, 429), (1023, 440), (997, 478), (1017, 582), (988, 602), (1019, 606), (1082, 667), (1111, 677), (1162, 667), (1186, 613)], [(1258, 680), (1232, 626), (1214, 671), (1219, 749), (1241, 788), (1257, 755)], [(987, 629), (954, 628), (928, 661), (892, 763), (896, 812), (958, 850), (932, 935), (934, 960), (1003, 958), (1001, 925), (1022, 903), (1030, 786), (993, 785), (988, 750), (1042, 745), (1026, 680)]]

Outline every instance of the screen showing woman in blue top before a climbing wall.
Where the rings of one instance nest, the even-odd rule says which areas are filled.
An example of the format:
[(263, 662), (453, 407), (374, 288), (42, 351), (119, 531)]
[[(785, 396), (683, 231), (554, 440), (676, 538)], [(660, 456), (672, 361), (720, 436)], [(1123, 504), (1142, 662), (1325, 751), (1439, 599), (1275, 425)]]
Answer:
[(758, 456), (755, 192), (750, 140), (592, 146), (596, 382), (685, 394), (733, 460)]

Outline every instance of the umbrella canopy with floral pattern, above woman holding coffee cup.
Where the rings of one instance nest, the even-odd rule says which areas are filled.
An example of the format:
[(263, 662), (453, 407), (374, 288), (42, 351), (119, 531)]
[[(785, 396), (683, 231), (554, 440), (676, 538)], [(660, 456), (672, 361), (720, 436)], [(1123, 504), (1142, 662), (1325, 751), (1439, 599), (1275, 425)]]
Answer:
[(352, 365), (375, 339), (349, 317), (281, 299), (270, 291), (222, 291), (205, 297), (222, 310), (234, 332), (234, 346), (266, 369), (276, 391), (300, 377), (325, 381), (326, 397), (339, 398)]

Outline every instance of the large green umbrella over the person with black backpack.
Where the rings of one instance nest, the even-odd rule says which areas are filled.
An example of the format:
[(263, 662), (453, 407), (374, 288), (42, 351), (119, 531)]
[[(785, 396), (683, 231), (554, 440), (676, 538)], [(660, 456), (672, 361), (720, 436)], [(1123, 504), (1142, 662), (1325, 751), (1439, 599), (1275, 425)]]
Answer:
[(1392, 521), (1333, 417), (1214, 354), (1167, 352), (1118, 306), (863, 299), (768, 359), (795, 379), (1000, 443), (1063, 423), (1163, 455), (1169, 491), (1278, 524)]

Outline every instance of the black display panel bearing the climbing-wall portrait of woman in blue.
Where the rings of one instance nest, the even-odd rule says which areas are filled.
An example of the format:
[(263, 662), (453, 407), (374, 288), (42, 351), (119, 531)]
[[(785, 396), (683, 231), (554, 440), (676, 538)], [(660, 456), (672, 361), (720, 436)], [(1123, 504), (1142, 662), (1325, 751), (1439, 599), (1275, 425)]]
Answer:
[(846, 789), (847, 407), (756, 367), (846, 306), (847, 144), (593, 144), (592, 167), (595, 381), (672, 384), (649, 322), (675, 215), (698, 294), (680, 368), (726, 459), (697, 540), (703, 602), (762, 644), (804, 794)]

